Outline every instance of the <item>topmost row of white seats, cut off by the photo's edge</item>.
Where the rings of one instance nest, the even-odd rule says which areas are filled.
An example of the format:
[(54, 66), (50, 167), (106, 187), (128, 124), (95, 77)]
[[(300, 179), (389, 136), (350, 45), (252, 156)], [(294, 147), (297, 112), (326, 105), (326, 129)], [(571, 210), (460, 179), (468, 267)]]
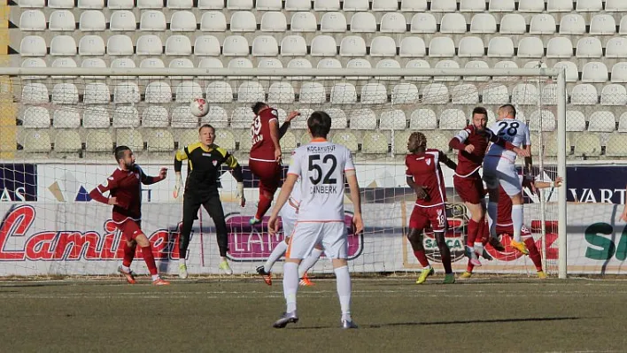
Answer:
[[(428, 6), (430, 3), (430, 7)], [(461, 12), (626, 12), (627, 4), (623, 0), (606, 0), (605, 7), (601, 0), (525, 0), (515, 2), (515, 0), (490, 0), (486, 7), (484, 0), (460, 0), (459, 11)], [(515, 4), (518, 3), (518, 8)], [(573, 7), (575, 3), (575, 7)], [(396, 11), (399, 10), (398, 0), (373, 0), (372, 7), (368, 0), (344, 0), (344, 6), (340, 6), (340, 0), (314, 0), (314, 11)], [(37, 8), (44, 7), (45, 0), (19, 0), (20, 7)], [(49, 0), (50, 8), (70, 9), (74, 8), (74, 0)], [(81, 9), (132, 9), (135, 7), (134, 1), (125, 0), (79, 0), (78, 7)], [(140, 9), (160, 9), (163, 7), (161, 0), (137, 0), (137, 7)], [(191, 9), (194, 7), (193, 0), (167, 0), (166, 7), (169, 9)], [(224, 1), (222, 0), (198, 0), (197, 8), (204, 10), (221, 10)], [(226, 4), (228, 10), (274, 10), (281, 11), (309, 11), (312, 9), (312, 2), (309, 0), (286, 0), (283, 7), (282, 0), (258, 0), (256, 4), (253, 0), (228, 0)], [(458, 11), (457, 0), (437, 0), (428, 2), (427, 0), (401, 0), (400, 10), (406, 12), (456, 12)]]

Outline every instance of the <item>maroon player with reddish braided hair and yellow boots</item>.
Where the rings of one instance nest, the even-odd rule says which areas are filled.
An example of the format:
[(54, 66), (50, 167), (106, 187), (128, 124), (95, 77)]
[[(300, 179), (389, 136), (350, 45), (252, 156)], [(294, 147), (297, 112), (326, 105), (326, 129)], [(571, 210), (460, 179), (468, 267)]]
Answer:
[(417, 196), (414, 211), (409, 219), (407, 240), (412, 244), (414, 256), (422, 265), (422, 273), (416, 283), (421, 284), (434, 272), (422, 246), (422, 232), (429, 226), (433, 229), (445, 268), (444, 282), (454, 283), (451, 250), (445, 242), (446, 190), (440, 163), (453, 170), (457, 165), (441, 150), (427, 149), (427, 138), (422, 133), (409, 135), (407, 150), (409, 151), (405, 157), (407, 185), (414, 189)]

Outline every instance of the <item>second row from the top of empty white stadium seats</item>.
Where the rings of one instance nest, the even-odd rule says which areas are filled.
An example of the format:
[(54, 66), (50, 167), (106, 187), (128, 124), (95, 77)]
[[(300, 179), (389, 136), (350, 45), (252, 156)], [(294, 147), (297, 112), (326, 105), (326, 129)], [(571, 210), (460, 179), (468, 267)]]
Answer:
[[(74, 14), (67, 10), (52, 12), (49, 18), (50, 31), (74, 31), (76, 24)], [(205, 12), (200, 19), (199, 26), (193, 12), (174, 12), (170, 18), (169, 29), (173, 32), (193, 32), (197, 29), (205, 32), (255, 32), (258, 28), (257, 19), (252, 12), (234, 12), (229, 24), (223, 12)], [(440, 27), (437, 27), (437, 24)], [(97, 10), (88, 10), (81, 13), (79, 29), (81, 31), (104, 31), (106, 29), (104, 13)], [(133, 12), (123, 10), (112, 12), (109, 29), (112, 31), (135, 31), (137, 23)], [(321, 16), (321, 32), (346, 32), (350, 24), (353, 33), (422, 33), (422, 34), (464, 34), (468, 30), (474, 34), (502, 35), (615, 35), (616, 22), (613, 16), (598, 14), (592, 17), (589, 30), (586, 21), (580, 14), (568, 14), (561, 18), (559, 31), (555, 19), (550, 14), (534, 15), (530, 20), (529, 30), (523, 15), (507, 14), (497, 26), (496, 19), (490, 13), (476, 14), (466, 23), (461, 13), (446, 13), (442, 19), (436, 20), (431, 13), (417, 13), (407, 26), (406, 18), (402, 13), (389, 12), (383, 15), (380, 26), (377, 27), (375, 15), (370, 12), (356, 12), (347, 22), (342, 12), (326, 12)], [(46, 19), (40, 10), (27, 10), (19, 18), (19, 28), (22, 31), (43, 31), (46, 29)], [(166, 15), (160, 11), (146, 11), (139, 21), (141, 31), (165, 31), (167, 29)], [(288, 30), (288, 22), (283, 12), (266, 12), (261, 17), (260, 30), (262, 32), (284, 32)], [(377, 29), (378, 28), (378, 29)], [(290, 21), (292, 32), (315, 32), (318, 30), (316, 18), (312, 12), (296, 12)], [(620, 21), (618, 34), (627, 34), (627, 16)]]

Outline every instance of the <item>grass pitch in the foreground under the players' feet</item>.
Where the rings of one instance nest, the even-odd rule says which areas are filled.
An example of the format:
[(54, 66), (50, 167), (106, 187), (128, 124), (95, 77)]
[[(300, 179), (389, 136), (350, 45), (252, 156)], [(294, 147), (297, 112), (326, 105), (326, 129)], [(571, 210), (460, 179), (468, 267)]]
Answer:
[(516, 352), (627, 351), (627, 281), (498, 276), (353, 280), (358, 330), (339, 327), (334, 280), (298, 291), (297, 325), (281, 280), (0, 283), (2, 351)]

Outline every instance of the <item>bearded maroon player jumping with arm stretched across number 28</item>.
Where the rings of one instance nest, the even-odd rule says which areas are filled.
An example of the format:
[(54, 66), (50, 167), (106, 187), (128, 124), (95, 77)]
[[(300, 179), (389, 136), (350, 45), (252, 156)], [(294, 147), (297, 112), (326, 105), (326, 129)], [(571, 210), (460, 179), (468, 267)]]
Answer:
[[(466, 204), (470, 211), (468, 222), (468, 238), (466, 240), (466, 255), (469, 261), (480, 266), (478, 255), (483, 254), (483, 249), (475, 250), (476, 235), (479, 227), (483, 225), (485, 217), (485, 191), (484, 181), (479, 175), (479, 168), (484, 163), (485, 151), (490, 142), (496, 143), (506, 150), (513, 150), (517, 154), (529, 155), (529, 152), (515, 147), (510, 142), (501, 139), (492, 130), (486, 128), (488, 124), (488, 111), (484, 107), (476, 107), (472, 111), (472, 124), (456, 134), (448, 145), (454, 150), (459, 150), (457, 169), (453, 176), (453, 185), (457, 195)], [(490, 238), (493, 247), (502, 249), (502, 245), (496, 238)]]

